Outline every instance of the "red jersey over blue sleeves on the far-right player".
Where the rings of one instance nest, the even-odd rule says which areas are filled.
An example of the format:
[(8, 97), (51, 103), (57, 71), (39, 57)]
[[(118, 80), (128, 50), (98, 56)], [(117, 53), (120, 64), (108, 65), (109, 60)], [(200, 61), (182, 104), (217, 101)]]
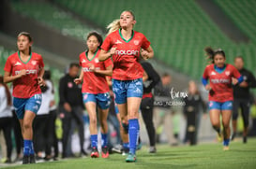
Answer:
[(226, 64), (222, 73), (215, 70), (214, 64), (205, 67), (203, 78), (209, 79), (212, 90), (209, 92), (209, 101), (227, 102), (233, 101), (232, 77), (241, 75), (232, 64)]

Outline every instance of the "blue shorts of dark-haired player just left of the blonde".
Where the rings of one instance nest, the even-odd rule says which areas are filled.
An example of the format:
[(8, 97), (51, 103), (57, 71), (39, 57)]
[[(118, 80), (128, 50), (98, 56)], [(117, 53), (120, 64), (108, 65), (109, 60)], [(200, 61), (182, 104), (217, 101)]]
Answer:
[(109, 92), (93, 94), (89, 92), (83, 92), (83, 103), (94, 102), (101, 109), (107, 109), (111, 105), (111, 95)]

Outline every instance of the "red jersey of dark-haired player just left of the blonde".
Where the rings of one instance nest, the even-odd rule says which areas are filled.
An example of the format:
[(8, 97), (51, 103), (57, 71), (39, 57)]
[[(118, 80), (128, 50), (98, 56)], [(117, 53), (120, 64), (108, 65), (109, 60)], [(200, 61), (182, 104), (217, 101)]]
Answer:
[(90, 70), (90, 65), (93, 64), (98, 70), (106, 70), (110, 65), (113, 65), (111, 58), (104, 62), (98, 61), (98, 54), (100, 49), (98, 49), (94, 57), (89, 60), (86, 51), (81, 53), (79, 56), (80, 65), (83, 68), (83, 87), (82, 92), (89, 92), (93, 94), (109, 92), (109, 86), (104, 75), (92, 72)]

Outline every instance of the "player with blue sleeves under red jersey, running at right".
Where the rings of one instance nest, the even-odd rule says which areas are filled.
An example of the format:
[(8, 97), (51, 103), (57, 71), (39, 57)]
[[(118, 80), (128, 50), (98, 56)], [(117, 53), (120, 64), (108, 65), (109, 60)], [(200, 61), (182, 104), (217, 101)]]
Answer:
[[(243, 77), (232, 64), (225, 63), (226, 56), (222, 49), (205, 49), (212, 63), (207, 65), (203, 72), (203, 85), (209, 91), (209, 110), (213, 128), (220, 136), (219, 116), (222, 116), (224, 128), (223, 150), (229, 150), (230, 142), (230, 120), (233, 109), (233, 88), (232, 83), (237, 84), (243, 81)], [(207, 80), (210, 83), (208, 84)]]

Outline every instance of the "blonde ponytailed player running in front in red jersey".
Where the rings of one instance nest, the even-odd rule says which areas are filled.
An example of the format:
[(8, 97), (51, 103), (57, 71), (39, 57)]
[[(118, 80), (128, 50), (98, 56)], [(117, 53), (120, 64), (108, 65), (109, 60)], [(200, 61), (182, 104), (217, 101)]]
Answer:
[(108, 27), (109, 35), (101, 46), (100, 61), (113, 57), (113, 92), (121, 120), (129, 135), (127, 162), (135, 162), (136, 142), (139, 135), (138, 112), (143, 97), (143, 67), (139, 63), (140, 50), (144, 59), (154, 56), (150, 42), (133, 31), (136, 23), (131, 11), (122, 12), (120, 19)]

